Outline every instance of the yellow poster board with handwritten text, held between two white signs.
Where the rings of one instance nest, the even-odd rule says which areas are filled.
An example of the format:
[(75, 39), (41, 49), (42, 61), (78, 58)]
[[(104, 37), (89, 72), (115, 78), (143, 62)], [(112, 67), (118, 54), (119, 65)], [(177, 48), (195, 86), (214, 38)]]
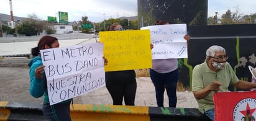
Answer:
[(152, 67), (150, 30), (99, 32), (107, 58), (105, 71), (121, 71)]

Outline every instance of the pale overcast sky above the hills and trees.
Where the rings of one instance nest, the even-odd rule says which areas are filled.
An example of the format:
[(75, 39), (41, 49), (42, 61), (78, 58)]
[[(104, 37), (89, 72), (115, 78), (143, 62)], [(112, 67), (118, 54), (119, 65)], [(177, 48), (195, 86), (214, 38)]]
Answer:
[[(256, 13), (255, 0), (208, 0), (208, 16), (219, 16), (227, 9), (235, 11), (239, 6), (243, 14)], [(58, 11), (68, 12), (68, 20), (78, 21), (87, 16), (91, 22), (122, 16), (137, 16), (137, 0), (12, 0), (14, 16), (27, 17), (36, 14), (39, 19), (47, 20), (47, 16), (58, 16)], [(0, 13), (10, 14), (9, 1), (0, 0)], [(57, 17), (58, 19), (58, 17)]]

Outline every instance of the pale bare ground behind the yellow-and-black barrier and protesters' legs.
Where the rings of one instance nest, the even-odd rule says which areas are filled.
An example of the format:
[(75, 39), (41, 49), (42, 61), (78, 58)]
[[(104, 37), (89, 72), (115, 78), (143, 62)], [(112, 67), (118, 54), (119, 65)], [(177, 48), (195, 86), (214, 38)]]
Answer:
[[(29, 59), (0, 59), (0, 101), (19, 103), (42, 103), (42, 97), (35, 99), (30, 96)], [(157, 106), (155, 100), (155, 89), (152, 81), (148, 77), (137, 79), (137, 92), (135, 105)], [(197, 108), (198, 104), (193, 93), (189, 91), (177, 92), (177, 106), (185, 108)], [(74, 98), (75, 104), (112, 104), (112, 99), (106, 87), (96, 91), (88, 92), (82, 96)], [(168, 107), (168, 97), (165, 94), (165, 107)]]

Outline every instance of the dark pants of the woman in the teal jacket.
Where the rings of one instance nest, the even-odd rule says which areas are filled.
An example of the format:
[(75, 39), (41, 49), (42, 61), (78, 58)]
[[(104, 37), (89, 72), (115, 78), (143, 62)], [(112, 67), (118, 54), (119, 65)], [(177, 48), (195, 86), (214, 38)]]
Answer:
[(71, 121), (70, 101), (54, 105), (43, 102), (43, 115), (51, 121)]

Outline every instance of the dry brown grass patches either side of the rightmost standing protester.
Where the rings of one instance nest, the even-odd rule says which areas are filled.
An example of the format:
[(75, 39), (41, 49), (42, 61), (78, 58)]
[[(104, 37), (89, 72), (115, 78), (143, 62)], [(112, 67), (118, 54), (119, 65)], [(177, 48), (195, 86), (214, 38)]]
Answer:
[[(150, 77), (149, 69), (135, 69), (136, 77)], [(177, 83), (177, 91), (188, 91), (188, 87), (185, 87), (183, 83), (178, 81)]]

